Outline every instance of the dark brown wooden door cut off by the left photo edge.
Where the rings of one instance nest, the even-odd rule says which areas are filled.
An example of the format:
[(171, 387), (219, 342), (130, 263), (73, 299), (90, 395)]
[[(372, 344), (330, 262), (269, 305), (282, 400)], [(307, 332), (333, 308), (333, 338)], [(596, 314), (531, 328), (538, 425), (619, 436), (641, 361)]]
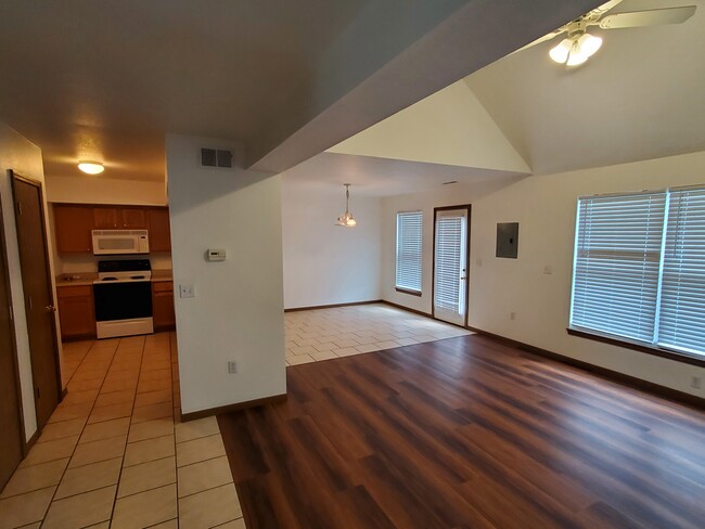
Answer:
[(22, 460), (25, 436), (17, 371), (17, 350), (10, 311), (10, 276), (0, 207), (0, 490)]

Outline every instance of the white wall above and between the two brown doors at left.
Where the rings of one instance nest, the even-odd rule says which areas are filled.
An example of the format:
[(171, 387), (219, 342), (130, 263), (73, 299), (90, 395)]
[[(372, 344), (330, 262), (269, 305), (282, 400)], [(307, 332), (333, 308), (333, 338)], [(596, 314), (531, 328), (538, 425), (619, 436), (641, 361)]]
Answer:
[[(22, 270), (20, 267), (20, 248), (15, 228), (15, 214), (12, 199), (12, 181), (8, 170), (12, 169), (23, 177), (31, 178), (43, 183), (44, 169), (41, 160), (41, 150), (23, 138), (15, 130), (0, 122), (0, 195), (2, 196), (2, 220), (8, 243), (8, 267), (12, 307), (14, 311), (15, 335), (17, 339), (17, 363), (20, 367), (20, 385), (25, 422), (25, 436), (29, 439), (37, 431), (37, 415), (35, 412), (34, 382), (31, 375), (31, 359), (29, 354), (29, 336), (27, 334), (27, 317), (25, 313), (24, 291), (22, 288)], [(44, 195), (46, 198), (46, 195)], [(44, 208), (47, 204), (44, 203)], [(46, 209), (44, 209), (44, 212)], [(50, 245), (50, 268), (53, 267)], [(53, 268), (52, 268), (53, 270)], [(53, 272), (51, 274), (54, 275)], [(55, 285), (52, 282), (54, 299)], [(59, 321), (56, 320), (59, 333)], [(61, 348), (61, 344), (59, 344)], [(61, 354), (60, 354), (61, 358)]]

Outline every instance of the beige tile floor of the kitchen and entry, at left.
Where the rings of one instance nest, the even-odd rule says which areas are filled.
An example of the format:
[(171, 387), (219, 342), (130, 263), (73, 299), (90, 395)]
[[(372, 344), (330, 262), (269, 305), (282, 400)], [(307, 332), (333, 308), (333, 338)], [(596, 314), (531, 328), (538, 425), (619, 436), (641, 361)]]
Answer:
[(178, 420), (174, 334), (65, 344), (63, 367), (0, 529), (245, 528), (215, 417)]

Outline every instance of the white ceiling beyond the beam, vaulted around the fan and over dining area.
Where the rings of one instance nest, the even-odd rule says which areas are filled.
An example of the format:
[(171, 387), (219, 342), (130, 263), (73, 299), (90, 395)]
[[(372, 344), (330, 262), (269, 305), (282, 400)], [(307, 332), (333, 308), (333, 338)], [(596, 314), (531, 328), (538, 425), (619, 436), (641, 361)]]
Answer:
[[(681, 25), (591, 28), (604, 43), (578, 68), (567, 69), (548, 56), (560, 39), (505, 56), (466, 77), (470, 92), (444, 89), (284, 175), (306, 182), (347, 181), (361, 193), (384, 196), (430, 190), (449, 179), (473, 183), (703, 151), (703, 3), (624, 0), (613, 13), (683, 4), (698, 9)], [(474, 101), (467, 106), (459, 96)], [(475, 101), (489, 117), (477, 112)], [(449, 103), (454, 113), (448, 112)], [(450, 127), (448, 120), (465, 122)], [(480, 140), (482, 131), (488, 132)], [(508, 172), (497, 156), (488, 164), (492, 151), (507, 157), (504, 142), (529, 169)], [(448, 146), (456, 152), (448, 153)], [(414, 163), (420, 160), (446, 165)]]

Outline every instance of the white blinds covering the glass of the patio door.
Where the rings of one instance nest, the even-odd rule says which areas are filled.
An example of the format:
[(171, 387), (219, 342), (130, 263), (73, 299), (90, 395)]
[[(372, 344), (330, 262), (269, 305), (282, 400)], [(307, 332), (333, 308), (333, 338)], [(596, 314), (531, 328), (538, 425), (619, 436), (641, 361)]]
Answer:
[(460, 306), (462, 230), (462, 217), (436, 220), (435, 306), (452, 311)]

